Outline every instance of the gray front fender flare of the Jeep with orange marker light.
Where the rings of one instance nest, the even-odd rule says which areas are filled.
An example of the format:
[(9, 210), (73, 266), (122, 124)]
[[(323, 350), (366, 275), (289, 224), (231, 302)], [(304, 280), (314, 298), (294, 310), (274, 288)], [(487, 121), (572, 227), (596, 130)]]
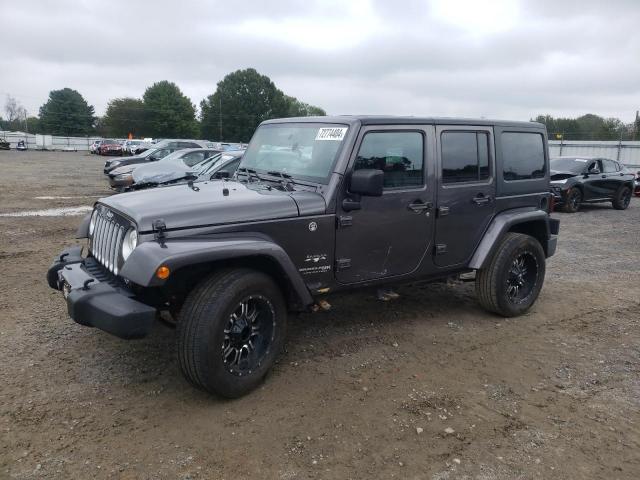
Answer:
[(269, 239), (257, 236), (200, 237), (144, 242), (131, 253), (120, 275), (143, 287), (160, 287), (165, 280), (156, 277), (164, 265), (175, 272), (190, 265), (250, 257), (267, 257), (282, 269), (303, 306), (313, 298), (298, 269), (284, 249)]

